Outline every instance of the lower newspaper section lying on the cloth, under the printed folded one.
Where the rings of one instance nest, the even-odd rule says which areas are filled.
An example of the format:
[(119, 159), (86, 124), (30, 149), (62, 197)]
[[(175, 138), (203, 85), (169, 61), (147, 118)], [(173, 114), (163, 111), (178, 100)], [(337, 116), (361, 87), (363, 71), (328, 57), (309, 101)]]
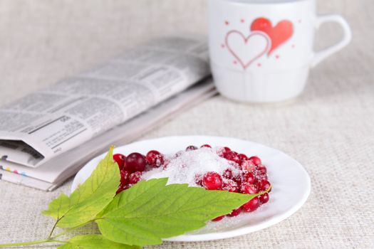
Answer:
[(214, 88), (212, 79), (204, 80), (150, 110), (142, 112), (128, 122), (113, 127), (36, 168), (0, 159), (0, 179), (44, 191), (52, 191), (68, 177), (76, 174), (88, 160), (108, 151), (111, 144), (127, 144), (182, 110), (197, 105), (215, 94), (217, 94), (217, 90)]

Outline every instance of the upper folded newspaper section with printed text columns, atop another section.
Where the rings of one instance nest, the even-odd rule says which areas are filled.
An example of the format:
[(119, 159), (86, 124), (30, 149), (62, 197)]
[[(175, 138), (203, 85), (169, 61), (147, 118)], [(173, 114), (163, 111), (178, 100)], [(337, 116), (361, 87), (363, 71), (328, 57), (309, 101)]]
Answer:
[(204, 39), (159, 38), (0, 109), (0, 158), (37, 167), (209, 74)]

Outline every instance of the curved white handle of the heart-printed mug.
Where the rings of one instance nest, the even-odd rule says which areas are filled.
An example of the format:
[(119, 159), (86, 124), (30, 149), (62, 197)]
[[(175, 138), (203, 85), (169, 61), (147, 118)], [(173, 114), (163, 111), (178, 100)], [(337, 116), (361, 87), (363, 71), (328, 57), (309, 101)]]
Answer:
[(352, 31), (350, 31), (348, 22), (346, 21), (345, 18), (343, 18), (343, 16), (339, 16), (339, 15), (317, 16), (316, 28), (319, 28), (321, 24), (329, 22), (329, 21), (336, 22), (341, 25), (341, 27), (343, 28), (343, 39), (339, 41), (338, 43), (336, 43), (335, 45), (315, 53), (313, 56), (312, 62), (311, 62), (312, 68), (315, 67), (322, 60), (326, 59), (328, 56), (340, 51), (342, 48), (347, 46), (348, 43), (350, 43), (350, 40), (352, 40)]

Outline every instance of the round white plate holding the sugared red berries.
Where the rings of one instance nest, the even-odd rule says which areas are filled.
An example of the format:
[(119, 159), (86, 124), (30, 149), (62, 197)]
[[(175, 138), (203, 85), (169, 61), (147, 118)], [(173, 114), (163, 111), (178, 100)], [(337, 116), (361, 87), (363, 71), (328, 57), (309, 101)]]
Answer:
[[(115, 149), (115, 153), (130, 154), (132, 152), (140, 152), (145, 154), (152, 149), (157, 149), (162, 153), (170, 154), (185, 149), (191, 144), (197, 146), (211, 144), (213, 147), (227, 146), (239, 153), (258, 155), (268, 169), (269, 181), (272, 184), (270, 201), (253, 213), (241, 213), (234, 218), (224, 218), (224, 220), (219, 222), (209, 222), (206, 227), (199, 231), (165, 240), (217, 240), (259, 231), (291, 216), (298, 208), (303, 206), (309, 196), (311, 179), (298, 161), (279, 150), (254, 142), (230, 137), (161, 137), (118, 147)], [(95, 166), (104, 156), (105, 154), (95, 157), (78, 172), (71, 186), (72, 191), (90, 176)]]

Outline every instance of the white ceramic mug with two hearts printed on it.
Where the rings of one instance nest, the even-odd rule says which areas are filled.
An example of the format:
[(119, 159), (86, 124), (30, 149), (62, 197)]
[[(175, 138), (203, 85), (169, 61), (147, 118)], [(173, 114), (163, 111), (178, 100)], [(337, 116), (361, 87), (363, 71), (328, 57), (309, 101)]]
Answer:
[[(344, 36), (315, 53), (321, 23)], [(299, 95), (309, 69), (346, 46), (351, 32), (338, 15), (316, 16), (315, 0), (209, 0), (209, 54), (219, 92), (241, 102), (278, 102)]]

